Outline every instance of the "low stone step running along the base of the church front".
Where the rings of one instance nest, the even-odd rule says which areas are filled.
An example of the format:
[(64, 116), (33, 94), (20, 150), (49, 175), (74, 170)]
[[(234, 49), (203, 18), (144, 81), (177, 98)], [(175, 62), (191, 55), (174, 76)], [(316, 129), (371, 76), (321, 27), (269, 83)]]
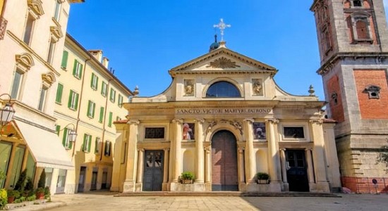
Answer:
[(261, 192), (239, 192), (239, 191), (213, 191), (213, 192), (168, 192), (168, 191), (144, 191), (133, 193), (119, 193), (119, 196), (247, 196), (247, 197), (337, 197), (332, 193), (309, 193), (309, 192), (281, 192), (281, 193), (261, 193)]

